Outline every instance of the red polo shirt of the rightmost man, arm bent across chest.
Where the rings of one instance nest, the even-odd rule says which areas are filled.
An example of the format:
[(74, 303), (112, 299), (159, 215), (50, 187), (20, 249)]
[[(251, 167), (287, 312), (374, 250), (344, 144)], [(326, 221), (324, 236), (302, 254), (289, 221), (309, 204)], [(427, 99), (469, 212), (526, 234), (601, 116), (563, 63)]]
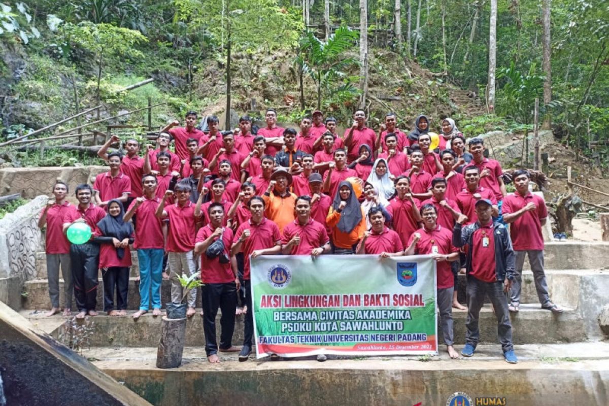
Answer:
[(526, 206), (529, 201), (537, 205), (537, 210), (527, 211), (515, 222), (510, 224), (510, 236), (514, 250), (543, 250), (543, 234), (541, 234), (541, 220), (547, 219), (546, 202), (541, 196), (531, 192), (521, 196), (518, 192), (510, 193), (503, 200), (503, 214), (511, 214)]

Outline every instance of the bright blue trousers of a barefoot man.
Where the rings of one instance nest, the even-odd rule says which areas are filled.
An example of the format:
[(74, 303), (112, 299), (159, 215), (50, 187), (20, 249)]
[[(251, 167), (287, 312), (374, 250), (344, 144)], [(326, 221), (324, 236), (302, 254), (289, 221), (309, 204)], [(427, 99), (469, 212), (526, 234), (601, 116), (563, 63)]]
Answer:
[(152, 289), (152, 308), (161, 308), (161, 282), (163, 281), (163, 248), (141, 248), (139, 261), (139, 310), (148, 310)]

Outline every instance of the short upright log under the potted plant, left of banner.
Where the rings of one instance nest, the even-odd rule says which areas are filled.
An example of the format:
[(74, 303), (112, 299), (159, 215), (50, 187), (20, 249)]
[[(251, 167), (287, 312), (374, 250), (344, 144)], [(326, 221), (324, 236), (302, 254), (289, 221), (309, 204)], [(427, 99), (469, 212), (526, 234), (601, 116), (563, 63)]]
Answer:
[(157, 349), (157, 368), (178, 368), (186, 341), (186, 318), (161, 320), (161, 340)]

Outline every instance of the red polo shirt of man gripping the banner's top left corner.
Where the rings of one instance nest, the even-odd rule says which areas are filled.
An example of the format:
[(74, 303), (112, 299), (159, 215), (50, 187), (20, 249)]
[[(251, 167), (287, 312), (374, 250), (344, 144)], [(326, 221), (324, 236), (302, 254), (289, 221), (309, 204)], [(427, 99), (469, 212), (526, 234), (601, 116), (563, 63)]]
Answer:
[(243, 279), (248, 281), (250, 279), (250, 255), (252, 251), (275, 247), (275, 245), (281, 243), (281, 234), (279, 227), (269, 219), (263, 218), (258, 225), (252, 223), (250, 219), (239, 226), (234, 234), (233, 244), (237, 243), (245, 229), (250, 230), (250, 236), (241, 245), (241, 251), (244, 257)]

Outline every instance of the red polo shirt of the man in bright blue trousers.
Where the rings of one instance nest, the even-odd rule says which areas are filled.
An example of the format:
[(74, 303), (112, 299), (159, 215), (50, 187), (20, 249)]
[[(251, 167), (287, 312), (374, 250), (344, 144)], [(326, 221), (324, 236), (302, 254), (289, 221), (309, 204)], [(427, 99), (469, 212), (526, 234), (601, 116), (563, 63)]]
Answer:
[[(137, 249), (163, 249), (165, 248), (165, 239), (163, 237), (163, 228), (161, 227), (162, 222), (156, 215), (157, 208), (161, 199), (155, 197), (148, 200), (144, 197), (144, 201), (141, 205), (135, 209), (135, 215), (138, 217), (138, 221), (135, 225), (135, 240), (133, 241), (133, 248)], [(132, 201), (127, 211), (135, 206), (136, 201)]]

